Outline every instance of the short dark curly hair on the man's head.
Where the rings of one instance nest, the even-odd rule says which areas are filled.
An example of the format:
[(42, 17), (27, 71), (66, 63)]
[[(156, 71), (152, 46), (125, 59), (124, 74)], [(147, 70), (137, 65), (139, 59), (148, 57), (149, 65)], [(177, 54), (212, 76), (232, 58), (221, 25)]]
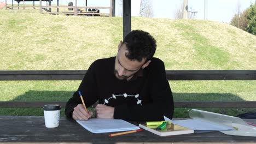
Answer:
[(155, 54), (156, 40), (148, 32), (133, 30), (124, 38), (128, 53), (125, 56), (131, 60), (136, 59), (141, 62), (146, 58), (149, 61)]

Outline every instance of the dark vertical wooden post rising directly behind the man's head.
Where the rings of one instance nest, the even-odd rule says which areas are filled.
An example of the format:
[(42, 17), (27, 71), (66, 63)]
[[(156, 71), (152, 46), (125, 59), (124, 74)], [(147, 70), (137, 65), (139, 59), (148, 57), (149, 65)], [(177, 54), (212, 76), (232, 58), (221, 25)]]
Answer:
[(123, 38), (131, 32), (131, 0), (123, 1)]

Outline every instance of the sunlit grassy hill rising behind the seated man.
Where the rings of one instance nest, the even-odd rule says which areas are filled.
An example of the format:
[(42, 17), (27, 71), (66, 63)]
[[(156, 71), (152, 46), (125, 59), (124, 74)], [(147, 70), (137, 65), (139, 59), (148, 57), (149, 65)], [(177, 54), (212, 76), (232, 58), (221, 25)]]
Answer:
[[(38, 11), (0, 10), (0, 70), (85, 70), (98, 58), (115, 56), (123, 39), (121, 17), (75, 17)], [(155, 57), (165, 62), (167, 70), (256, 69), (255, 35), (226, 23), (132, 17), (132, 29), (142, 29), (155, 37), (158, 45)], [(0, 101), (66, 101), (79, 83), (0, 81)], [(170, 81), (176, 101), (256, 100), (255, 84), (254, 81)], [(47, 97), (49, 94), (51, 97)], [(25, 109), (17, 110), (8, 109), (8, 114), (40, 113), (40, 110), (32, 114)], [(0, 115), (7, 115), (6, 111), (0, 109)], [(231, 115), (242, 112), (234, 110)], [(181, 115), (176, 112), (176, 116)]]

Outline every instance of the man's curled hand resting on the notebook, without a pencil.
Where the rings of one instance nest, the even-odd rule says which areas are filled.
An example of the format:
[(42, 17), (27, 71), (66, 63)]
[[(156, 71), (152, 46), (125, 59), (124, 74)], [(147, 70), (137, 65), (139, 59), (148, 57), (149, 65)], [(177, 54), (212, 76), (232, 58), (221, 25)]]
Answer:
[(95, 107), (97, 118), (114, 118), (115, 107), (97, 104)]

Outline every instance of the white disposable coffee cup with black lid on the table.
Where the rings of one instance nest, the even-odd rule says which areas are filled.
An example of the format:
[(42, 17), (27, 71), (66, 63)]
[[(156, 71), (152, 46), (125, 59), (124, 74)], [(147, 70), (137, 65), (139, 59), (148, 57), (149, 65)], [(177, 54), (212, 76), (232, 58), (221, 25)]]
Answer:
[(56, 128), (60, 124), (60, 105), (44, 105), (44, 122), (46, 128)]

